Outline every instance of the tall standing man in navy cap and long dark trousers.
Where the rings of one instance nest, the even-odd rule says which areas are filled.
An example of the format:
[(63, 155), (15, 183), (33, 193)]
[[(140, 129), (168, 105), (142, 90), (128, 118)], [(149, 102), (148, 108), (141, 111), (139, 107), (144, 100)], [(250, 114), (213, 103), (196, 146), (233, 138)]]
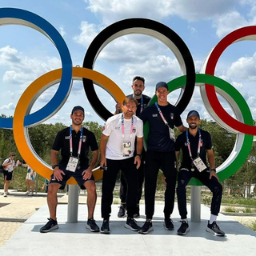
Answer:
[(145, 123), (150, 123), (150, 133), (146, 151), (145, 168), (145, 204), (146, 222), (138, 231), (140, 234), (148, 234), (154, 230), (152, 218), (154, 215), (154, 196), (158, 178), (158, 171), (161, 168), (166, 177), (165, 192), (165, 221), (163, 223), (166, 230), (174, 230), (174, 225), (170, 215), (174, 210), (174, 196), (176, 185), (176, 157), (174, 149), (174, 126), (181, 132), (186, 130), (182, 124), (182, 119), (178, 109), (167, 102), (169, 94), (166, 82), (158, 82), (155, 88), (158, 102), (147, 106), (139, 115)]

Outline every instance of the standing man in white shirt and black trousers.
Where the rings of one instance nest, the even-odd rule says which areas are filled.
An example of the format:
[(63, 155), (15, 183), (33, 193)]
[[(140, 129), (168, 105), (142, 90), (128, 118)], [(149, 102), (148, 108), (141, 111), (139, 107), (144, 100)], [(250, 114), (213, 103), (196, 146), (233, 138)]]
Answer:
[[(126, 228), (138, 231), (134, 220), (138, 194), (138, 167), (141, 163), (143, 147), (143, 123), (134, 116), (138, 102), (134, 98), (126, 98), (122, 103), (123, 112), (115, 114), (106, 121), (102, 132), (100, 150), (102, 155), (102, 218), (101, 233), (109, 234), (109, 218), (113, 202), (113, 190), (119, 170), (127, 182), (127, 221)], [(137, 138), (137, 154), (134, 156), (135, 138)]]

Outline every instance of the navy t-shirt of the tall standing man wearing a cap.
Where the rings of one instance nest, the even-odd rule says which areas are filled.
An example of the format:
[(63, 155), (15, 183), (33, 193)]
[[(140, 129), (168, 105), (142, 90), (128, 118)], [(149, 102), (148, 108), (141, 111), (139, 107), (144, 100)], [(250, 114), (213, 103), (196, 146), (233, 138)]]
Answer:
[[(182, 126), (182, 119), (176, 106), (168, 103), (167, 106), (159, 106), (159, 108), (170, 128)], [(174, 151), (174, 141), (170, 139), (169, 128), (163, 122), (155, 105), (147, 106), (138, 117), (142, 119), (143, 123), (146, 121), (150, 123), (150, 133), (146, 141), (148, 150)]]

